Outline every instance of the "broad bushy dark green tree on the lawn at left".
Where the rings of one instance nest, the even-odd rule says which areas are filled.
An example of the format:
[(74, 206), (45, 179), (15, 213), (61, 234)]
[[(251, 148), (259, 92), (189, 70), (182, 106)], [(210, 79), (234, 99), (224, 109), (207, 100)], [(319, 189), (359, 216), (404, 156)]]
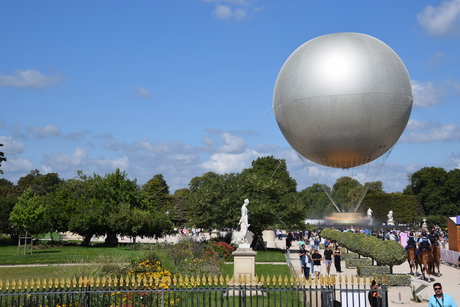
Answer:
[[(80, 234), (84, 237), (83, 245), (88, 245), (93, 235), (107, 235), (106, 242), (110, 243), (116, 235), (137, 233), (137, 229), (114, 223), (112, 220), (126, 218), (126, 212), (129, 211), (126, 208), (149, 211), (153, 216), (150, 220), (169, 222), (164, 212), (149, 209), (145, 192), (138, 189), (136, 180), (129, 180), (127, 174), (119, 169), (104, 177), (97, 174), (86, 176), (78, 172), (76, 178), (66, 181), (56, 189), (48, 208), (48, 212), (59, 212), (55, 215), (59, 217), (59, 221), (53, 221), (55, 227)], [(162, 225), (166, 224), (170, 225)], [(143, 235), (156, 237), (162, 234), (143, 232)]]

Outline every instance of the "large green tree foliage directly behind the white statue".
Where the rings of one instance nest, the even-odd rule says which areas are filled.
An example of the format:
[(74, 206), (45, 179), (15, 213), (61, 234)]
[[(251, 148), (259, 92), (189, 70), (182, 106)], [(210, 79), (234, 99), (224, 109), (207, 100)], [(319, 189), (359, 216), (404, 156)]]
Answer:
[[(283, 169), (282, 162), (278, 165), (281, 166), (276, 172)], [(190, 186), (196, 190), (185, 200), (189, 224), (207, 229), (236, 228), (241, 206), (248, 198), (249, 230), (254, 233), (261, 234), (275, 227), (305, 227), (305, 205), (297, 193), (290, 192), (292, 184), (268, 176), (272, 174), (271, 169), (264, 173), (259, 169), (260, 164), (256, 166), (257, 169), (247, 169), (240, 174), (207, 173), (192, 179)]]

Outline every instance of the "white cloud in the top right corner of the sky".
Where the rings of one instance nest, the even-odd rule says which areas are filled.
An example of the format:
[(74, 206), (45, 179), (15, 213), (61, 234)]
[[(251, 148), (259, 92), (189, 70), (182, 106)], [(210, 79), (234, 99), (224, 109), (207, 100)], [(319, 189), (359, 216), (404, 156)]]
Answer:
[(437, 7), (427, 6), (417, 20), (430, 35), (460, 34), (460, 0), (444, 1)]

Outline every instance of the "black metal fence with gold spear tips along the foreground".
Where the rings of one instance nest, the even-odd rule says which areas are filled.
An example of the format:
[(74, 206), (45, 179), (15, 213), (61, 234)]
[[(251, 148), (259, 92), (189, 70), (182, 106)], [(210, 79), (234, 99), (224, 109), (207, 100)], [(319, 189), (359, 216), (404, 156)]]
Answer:
[[(0, 281), (0, 306), (116, 307), (116, 306), (308, 306), (365, 307), (374, 296), (388, 306), (385, 278), (377, 290), (370, 279), (321, 276), (292, 277), (179, 276), (148, 278), (82, 278), (70, 280)], [(374, 294), (374, 295), (373, 295)]]

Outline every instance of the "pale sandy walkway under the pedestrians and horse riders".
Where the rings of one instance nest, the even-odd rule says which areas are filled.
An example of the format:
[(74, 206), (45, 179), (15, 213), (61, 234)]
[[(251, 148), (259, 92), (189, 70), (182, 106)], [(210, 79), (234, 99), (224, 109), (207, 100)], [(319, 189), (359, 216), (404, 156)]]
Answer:
[[(280, 249), (285, 249), (285, 240), (278, 240), (275, 239), (275, 243), (277, 248)], [(324, 249), (320, 250), (320, 253), (324, 253)], [(291, 263), (294, 267), (294, 270), (296, 274), (300, 275), (301, 270), (300, 270), (300, 261), (299, 261), (299, 255), (298, 255), (298, 242), (293, 242), (292, 247), (291, 247), (291, 253), (290, 253), (290, 260)], [(395, 266), (393, 268), (394, 273), (409, 273), (409, 265), (407, 262)], [(324, 263), (322, 263), (322, 274), (326, 274), (326, 266)], [(345, 267), (345, 262), (342, 261), (342, 273), (336, 273), (334, 264), (331, 266), (331, 275), (342, 275), (343, 277), (347, 275), (349, 278), (352, 275), (356, 275), (356, 269), (347, 269)], [(420, 280), (420, 277), (416, 277), (415, 279)], [(421, 298), (424, 299), (422, 303), (415, 303), (411, 301), (412, 299), (412, 290), (411, 287), (389, 287), (388, 291), (388, 296), (389, 296), (389, 306), (399, 306), (399, 305), (404, 305), (404, 306), (413, 306), (413, 307), (421, 307), (421, 306), (427, 306), (428, 302), (427, 300), (431, 295), (433, 295), (433, 283), (435, 282), (440, 282), (443, 287), (443, 292), (446, 294), (449, 294), (452, 296), (455, 300), (455, 303), (457, 303), (458, 306), (460, 306), (460, 270), (457, 270), (457, 268), (454, 268), (452, 266), (448, 266), (445, 264), (441, 264), (441, 276), (440, 277), (432, 277), (432, 281), (426, 291), (421, 295)], [(420, 286), (420, 283), (418, 282), (412, 282), (412, 286), (415, 288), (418, 288)], [(397, 304), (392, 301), (403, 301), (405, 302), (404, 304)]]

